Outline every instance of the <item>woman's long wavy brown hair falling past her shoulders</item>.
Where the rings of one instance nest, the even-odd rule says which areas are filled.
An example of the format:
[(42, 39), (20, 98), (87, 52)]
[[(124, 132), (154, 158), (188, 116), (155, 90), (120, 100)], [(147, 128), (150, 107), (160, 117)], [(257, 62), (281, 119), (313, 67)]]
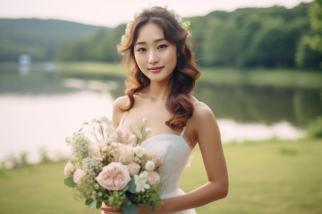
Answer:
[(172, 114), (172, 117), (166, 121), (166, 125), (171, 129), (180, 130), (192, 116), (193, 104), (190, 96), (195, 87), (195, 82), (200, 76), (200, 71), (190, 47), (189, 32), (180, 26), (174, 13), (166, 8), (143, 9), (135, 17), (126, 41), (117, 46), (118, 52), (123, 56), (122, 62), (128, 70), (125, 92), (130, 99), (130, 104), (121, 108), (121, 110), (131, 109), (135, 102), (134, 95), (150, 85), (150, 79), (140, 71), (134, 57), (134, 44), (137, 40), (138, 30), (147, 23), (154, 23), (162, 28), (165, 39), (176, 45), (177, 48), (179, 56), (169, 81), (170, 93), (166, 103), (166, 108)]

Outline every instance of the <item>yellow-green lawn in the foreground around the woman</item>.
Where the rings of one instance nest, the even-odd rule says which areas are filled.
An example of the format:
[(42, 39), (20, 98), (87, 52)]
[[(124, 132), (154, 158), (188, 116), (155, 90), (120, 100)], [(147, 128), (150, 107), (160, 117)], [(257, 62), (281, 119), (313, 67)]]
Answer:
[[(197, 208), (198, 214), (318, 214), (322, 210), (322, 140), (225, 144), (227, 198)], [(199, 148), (183, 174), (186, 192), (206, 182)], [(100, 213), (69, 198), (65, 163), (0, 170), (0, 214)]]

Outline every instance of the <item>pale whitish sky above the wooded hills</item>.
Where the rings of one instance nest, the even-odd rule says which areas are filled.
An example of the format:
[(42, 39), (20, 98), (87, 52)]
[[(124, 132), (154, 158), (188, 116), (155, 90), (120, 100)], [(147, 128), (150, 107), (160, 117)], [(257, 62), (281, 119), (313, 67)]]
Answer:
[(0, 0), (0, 18), (41, 18), (65, 20), (114, 28), (132, 20), (133, 14), (148, 6), (168, 6), (183, 17), (204, 16), (216, 10), (237, 8), (293, 8), (313, 0)]

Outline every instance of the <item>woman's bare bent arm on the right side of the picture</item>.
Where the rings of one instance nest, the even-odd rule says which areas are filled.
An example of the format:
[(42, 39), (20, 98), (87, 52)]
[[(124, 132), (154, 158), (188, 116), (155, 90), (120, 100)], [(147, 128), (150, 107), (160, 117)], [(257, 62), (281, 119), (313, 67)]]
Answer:
[(208, 182), (183, 196), (164, 199), (162, 207), (155, 212), (140, 207), (140, 214), (164, 214), (195, 208), (227, 196), (228, 174), (216, 118), (207, 105), (199, 102), (189, 125), (193, 126), (199, 143)]

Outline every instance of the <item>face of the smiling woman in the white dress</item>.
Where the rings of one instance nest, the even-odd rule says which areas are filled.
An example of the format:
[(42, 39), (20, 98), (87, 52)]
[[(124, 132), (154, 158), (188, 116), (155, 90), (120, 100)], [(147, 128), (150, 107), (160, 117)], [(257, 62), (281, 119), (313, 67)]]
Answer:
[(134, 57), (151, 82), (167, 83), (177, 63), (176, 46), (165, 40), (162, 29), (154, 23), (139, 28)]

